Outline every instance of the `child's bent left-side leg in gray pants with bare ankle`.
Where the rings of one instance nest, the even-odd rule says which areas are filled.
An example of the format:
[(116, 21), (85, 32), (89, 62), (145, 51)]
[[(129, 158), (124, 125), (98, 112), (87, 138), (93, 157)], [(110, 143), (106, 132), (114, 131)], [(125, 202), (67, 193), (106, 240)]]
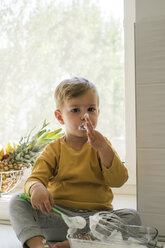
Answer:
[(35, 210), (29, 201), (20, 199), (18, 195), (11, 199), (9, 213), (13, 229), (22, 245), (43, 248), (44, 238), (66, 240), (67, 226), (58, 214)]

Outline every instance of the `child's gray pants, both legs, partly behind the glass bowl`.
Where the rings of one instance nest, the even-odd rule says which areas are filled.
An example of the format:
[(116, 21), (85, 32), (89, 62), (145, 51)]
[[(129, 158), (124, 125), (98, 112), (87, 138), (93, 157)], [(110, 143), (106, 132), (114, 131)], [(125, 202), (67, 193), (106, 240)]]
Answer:
[[(82, 216), (86, 220), (98, 211), (74, 210), (55, 205), (68, 216)], [(103, 209), (104, 211), (107, 209)], [(110, 210), (108, 210), (110, 211)], [(141, 225), (139, 214), (133, 209), (113, 210), (128, 225)], [(57, 213), (43, 213), (32, 208), (27, 200), (15, 195), (10, 200), (9, 214), (13, 229), (22, 243), (35, 236), (44, 236), (51, 244), (66, 240), (68, 227)], [(53, 243), (52, 243), (53, 242)]]

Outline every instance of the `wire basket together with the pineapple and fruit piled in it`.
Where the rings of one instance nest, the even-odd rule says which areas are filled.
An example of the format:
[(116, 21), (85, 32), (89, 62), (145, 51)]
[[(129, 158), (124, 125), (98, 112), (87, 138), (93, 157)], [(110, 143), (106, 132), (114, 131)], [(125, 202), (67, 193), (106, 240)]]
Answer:
[(13, 190), (20, 182), (26, 168), (32, 168), (45, 146), (63, 136), (62, 129), (47, 129), (43, 122), (41, 129), (31, 137), (31, 133), (21, 137), (19, 143), (8, 142), (0, 146), (0, 195)]

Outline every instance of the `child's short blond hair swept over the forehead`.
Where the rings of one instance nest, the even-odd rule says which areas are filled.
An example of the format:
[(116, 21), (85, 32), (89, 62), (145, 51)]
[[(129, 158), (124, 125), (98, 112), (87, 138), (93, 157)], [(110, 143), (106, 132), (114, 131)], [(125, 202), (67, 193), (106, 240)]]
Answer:
[(60, 109), (66, 99), (72, 99), (74, 97), (83, 95), (91, 89), (96, 92), (99, 104), (99, 95), (94, 83), (82, 77), (73, 77), (71, 79), (63, 80), (55, 90), (54, 98), (56, 107)]

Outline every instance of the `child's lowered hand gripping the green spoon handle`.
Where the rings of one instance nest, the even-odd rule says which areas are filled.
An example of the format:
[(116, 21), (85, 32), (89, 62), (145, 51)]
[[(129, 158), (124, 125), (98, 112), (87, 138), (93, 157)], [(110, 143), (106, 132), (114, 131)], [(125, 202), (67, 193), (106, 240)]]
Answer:
[(52, 212), (54, 200), (49, 191), (41, 183), (32, 185), (30, 189), (31, 204), (34, 209), (39, 209), (42, 212)]

